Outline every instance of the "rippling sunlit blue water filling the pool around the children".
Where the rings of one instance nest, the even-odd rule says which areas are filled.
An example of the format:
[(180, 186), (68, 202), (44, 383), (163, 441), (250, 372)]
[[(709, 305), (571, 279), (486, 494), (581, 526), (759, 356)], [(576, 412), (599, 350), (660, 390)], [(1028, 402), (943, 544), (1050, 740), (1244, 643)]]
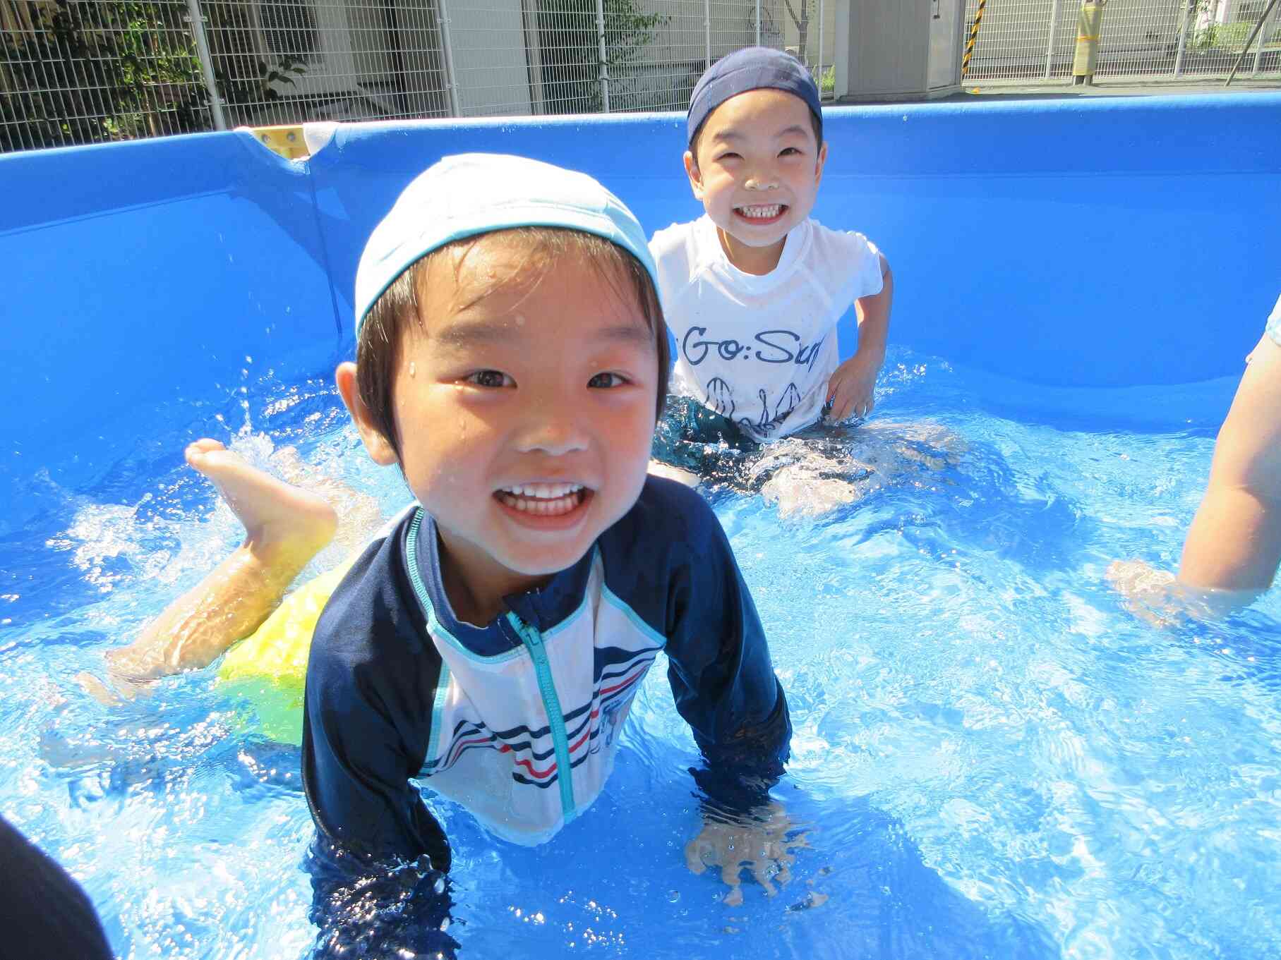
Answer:
[[(249, 378), (122, 444), (91, 493), (32, 477), (0, 539), (0, 812), (126, 957), (314, 937), (297, 749), (213, 669), (115, 708), (72, 681), (238, 541), (179, 465), (190, 439), (266, 465), (292, 444), (401, 506), (323, 380)], [(892, 351), (874, 421), (927, 425), (922, 457), (819, 516), (708, 492), (789, 696), (793, 882), (729, 908), (687, 870), (697, 753), (660, 664), (605, 794), (552, 842), (430, 801), (462, 956), (1281, 956), (1281, 590), (1158, 628), (1104, 580), (1176, 566), (1234, 388), (1045, 389)]]

